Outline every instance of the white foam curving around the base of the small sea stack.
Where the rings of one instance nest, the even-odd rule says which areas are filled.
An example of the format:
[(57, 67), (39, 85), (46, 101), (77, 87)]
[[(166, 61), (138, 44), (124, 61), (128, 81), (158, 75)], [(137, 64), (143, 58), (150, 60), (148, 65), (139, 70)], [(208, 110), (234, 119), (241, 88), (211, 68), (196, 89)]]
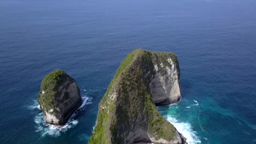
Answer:
[(42, 133), (42, 136), (51, 135), (56, 137), (60, 136), (62, 132), (65, 132), (68, 129), (75, 127), (75, 125), (78, 124), (78, 120), (75, 119), (75, 116), (79, 113), (79, 111), (83, 110), (85, 105), (91, 104), (91, 99), (92, 98), (89, 97), (82, 97), (82, 105), (72, 114), (72, 116), (68, 119), (67, 123), (61, 127), (45, 123), (43, 112), (40, 112), (34, 118), (34, 122), (36, 123), (36, 132)]

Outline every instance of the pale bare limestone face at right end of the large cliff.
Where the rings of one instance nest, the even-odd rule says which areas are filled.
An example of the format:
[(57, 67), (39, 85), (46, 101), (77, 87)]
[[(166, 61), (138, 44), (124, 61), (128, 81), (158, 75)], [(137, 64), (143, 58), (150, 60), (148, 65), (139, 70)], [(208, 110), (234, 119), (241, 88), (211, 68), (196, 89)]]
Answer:
[(154, 73), (149, 86), (155, 105), (177, 103), (181, 99), (177, 57), (173, 53), (155, 53), (153, 64)]

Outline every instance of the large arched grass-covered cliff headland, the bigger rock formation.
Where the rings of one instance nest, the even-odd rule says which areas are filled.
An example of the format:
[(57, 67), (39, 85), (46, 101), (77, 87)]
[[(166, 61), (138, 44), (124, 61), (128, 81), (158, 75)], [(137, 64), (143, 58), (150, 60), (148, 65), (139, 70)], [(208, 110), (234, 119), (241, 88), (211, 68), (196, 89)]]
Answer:
[(173, 53), (132, 51), (98, 105), (89, 143), (182, 143), (178, 131), (155, 106), (177, 102), (180, 96)]

